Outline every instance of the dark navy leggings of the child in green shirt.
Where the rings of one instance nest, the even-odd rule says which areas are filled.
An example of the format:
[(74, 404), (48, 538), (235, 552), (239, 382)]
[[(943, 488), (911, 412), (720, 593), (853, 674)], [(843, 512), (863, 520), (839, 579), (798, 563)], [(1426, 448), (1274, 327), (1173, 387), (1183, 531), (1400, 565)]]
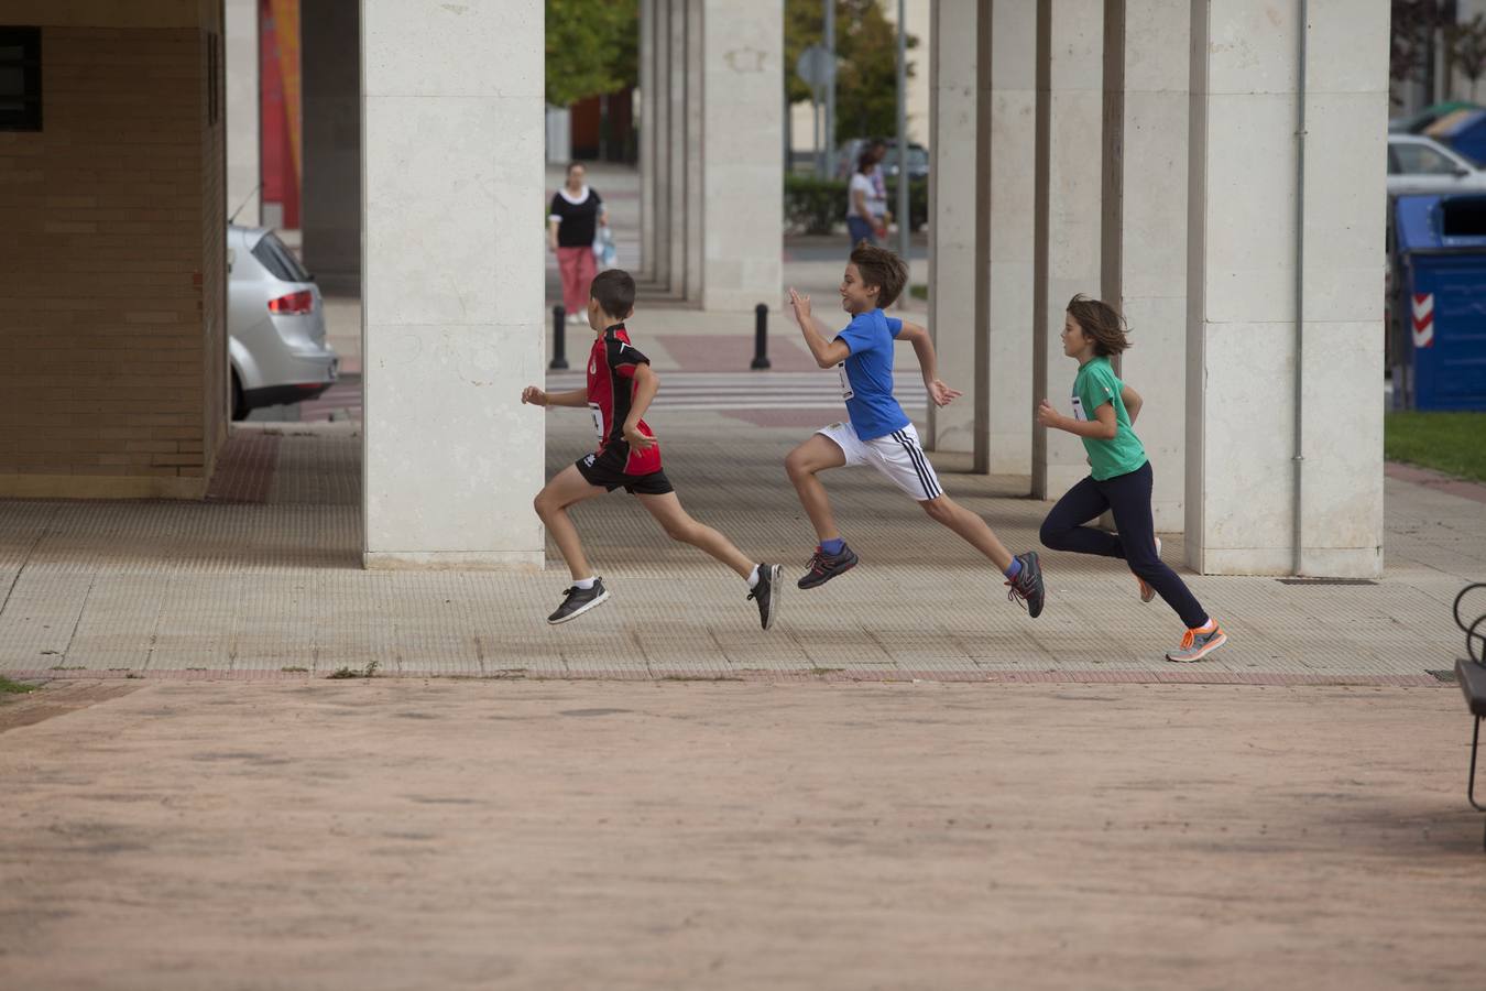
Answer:
[[(1085, 478), (1068, 489), (1042, 522), (1042, 542), (1057, 551), (1125, 559), (1129, 569), (1146, 579), (1192, 630), (1207, 623), (1208, 615), (1177, 572), (1156, 556), (1150, 486), (1149, 461), (1126, 475), (1104, 481)], [(1100, 519), (1104, 510), (1113, 510), (1117, 535), (1083, 526)]]

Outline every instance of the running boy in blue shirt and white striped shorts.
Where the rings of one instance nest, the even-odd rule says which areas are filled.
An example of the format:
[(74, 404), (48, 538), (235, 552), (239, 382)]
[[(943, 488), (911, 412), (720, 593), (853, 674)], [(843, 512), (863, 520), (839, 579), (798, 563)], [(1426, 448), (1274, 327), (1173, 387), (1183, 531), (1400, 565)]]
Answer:
[(903, 291), (908, 266), (886, 248), (859, 244), (851, 251), (841, 279), (841, 309), (851, 322), (840, 334), (810, 315), (810, 297), (789, 290), (795, 319), (805, 345), (822, 368), (835, 365), (841, 374), (841, 398), (847, 422), (816, 431), (814, 437), (789, 452), (785, 468), (799, 493), (810, 522), (820, 539), (801, 588), (823, 585), (853, 568), (856, 554), (837, 529), (826, 489), (816, 475), (841, 465), (872, 465), (924, 508), (936, 523), (944, 523), (1006, 575), (1008, 599), (1025, 603), (1028, 615), (1039, 615), (1043, 605), (1042, 568), (1037, 553), (1012, 554), (975, 513), (963, 508), (939, 487), (933, 465), (918, 444), (918, 431), (893, 398), (893, 342), (912, 343), (923, 368), (924, 388), (935, 406), (947, 406), (960, 394), (939, 380), (935, 371), (933, 340), (929, 331), (883, 313), (884, 306)]

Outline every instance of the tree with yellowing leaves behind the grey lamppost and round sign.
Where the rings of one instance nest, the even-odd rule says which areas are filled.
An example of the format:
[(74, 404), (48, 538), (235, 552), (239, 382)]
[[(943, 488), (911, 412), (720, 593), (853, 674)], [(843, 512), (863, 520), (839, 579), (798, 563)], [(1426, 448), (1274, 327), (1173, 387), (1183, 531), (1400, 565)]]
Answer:
[[(825, 37), (822, 0), (785, 0), (785, 86), (789, 103), (810, 100), (810, 86), (795, 74), (795, 61)], [(908, 48), (918, 39), (908, 36)], [(835, 140), (898, 134), (898, 28), (881, 0), (837, 0)], [(914, 74), (914, 67), (908, 67)]]

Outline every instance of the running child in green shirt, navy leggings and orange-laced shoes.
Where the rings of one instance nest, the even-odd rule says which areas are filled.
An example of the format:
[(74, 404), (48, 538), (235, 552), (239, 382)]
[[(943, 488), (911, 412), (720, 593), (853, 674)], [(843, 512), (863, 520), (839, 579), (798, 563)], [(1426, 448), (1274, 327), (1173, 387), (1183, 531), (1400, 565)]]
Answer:
[[(1181, 646), (1167, 651), (1167, 660), (1199, 661), (1223, 646), (1227, 634), (1161, 560), (1161, 541), (1150, 516), (1150, 461), (1134, 429), (1140, 394), (1120, 382), (1110, 365), (1110, 355), (1128, 346), (1125, 322), (1112, 306), (1082, 294), (1068, 302), (1062, 354), (1079, 361), (1073, 416), (1058, 413), (1043, 400), (1037, 422), (1083, 438), (1092, 471), (1052, 507), (1042, 522), (1042, 542), (1076, 554), (1123, 557), (1140, 579), (1141, 602), (1159, 594), (1187, 627)], [(1114, 514), (1117, 535), (1085, 526), (1106, 510)]]

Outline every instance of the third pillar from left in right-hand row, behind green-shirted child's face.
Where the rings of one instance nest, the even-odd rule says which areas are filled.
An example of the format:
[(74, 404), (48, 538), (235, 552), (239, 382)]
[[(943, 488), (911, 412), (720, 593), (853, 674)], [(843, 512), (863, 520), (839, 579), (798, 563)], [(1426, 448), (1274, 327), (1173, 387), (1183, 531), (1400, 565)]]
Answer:
[[(1077, 367), (1062, 354), (1074, 293), (1100, 291), (1104, 0), (1037, 3), (1036, 398), (1070, 410)], [(1033, 432), (1033, 493), (1055, 499), (1088, 474), (1083, 444)]]

